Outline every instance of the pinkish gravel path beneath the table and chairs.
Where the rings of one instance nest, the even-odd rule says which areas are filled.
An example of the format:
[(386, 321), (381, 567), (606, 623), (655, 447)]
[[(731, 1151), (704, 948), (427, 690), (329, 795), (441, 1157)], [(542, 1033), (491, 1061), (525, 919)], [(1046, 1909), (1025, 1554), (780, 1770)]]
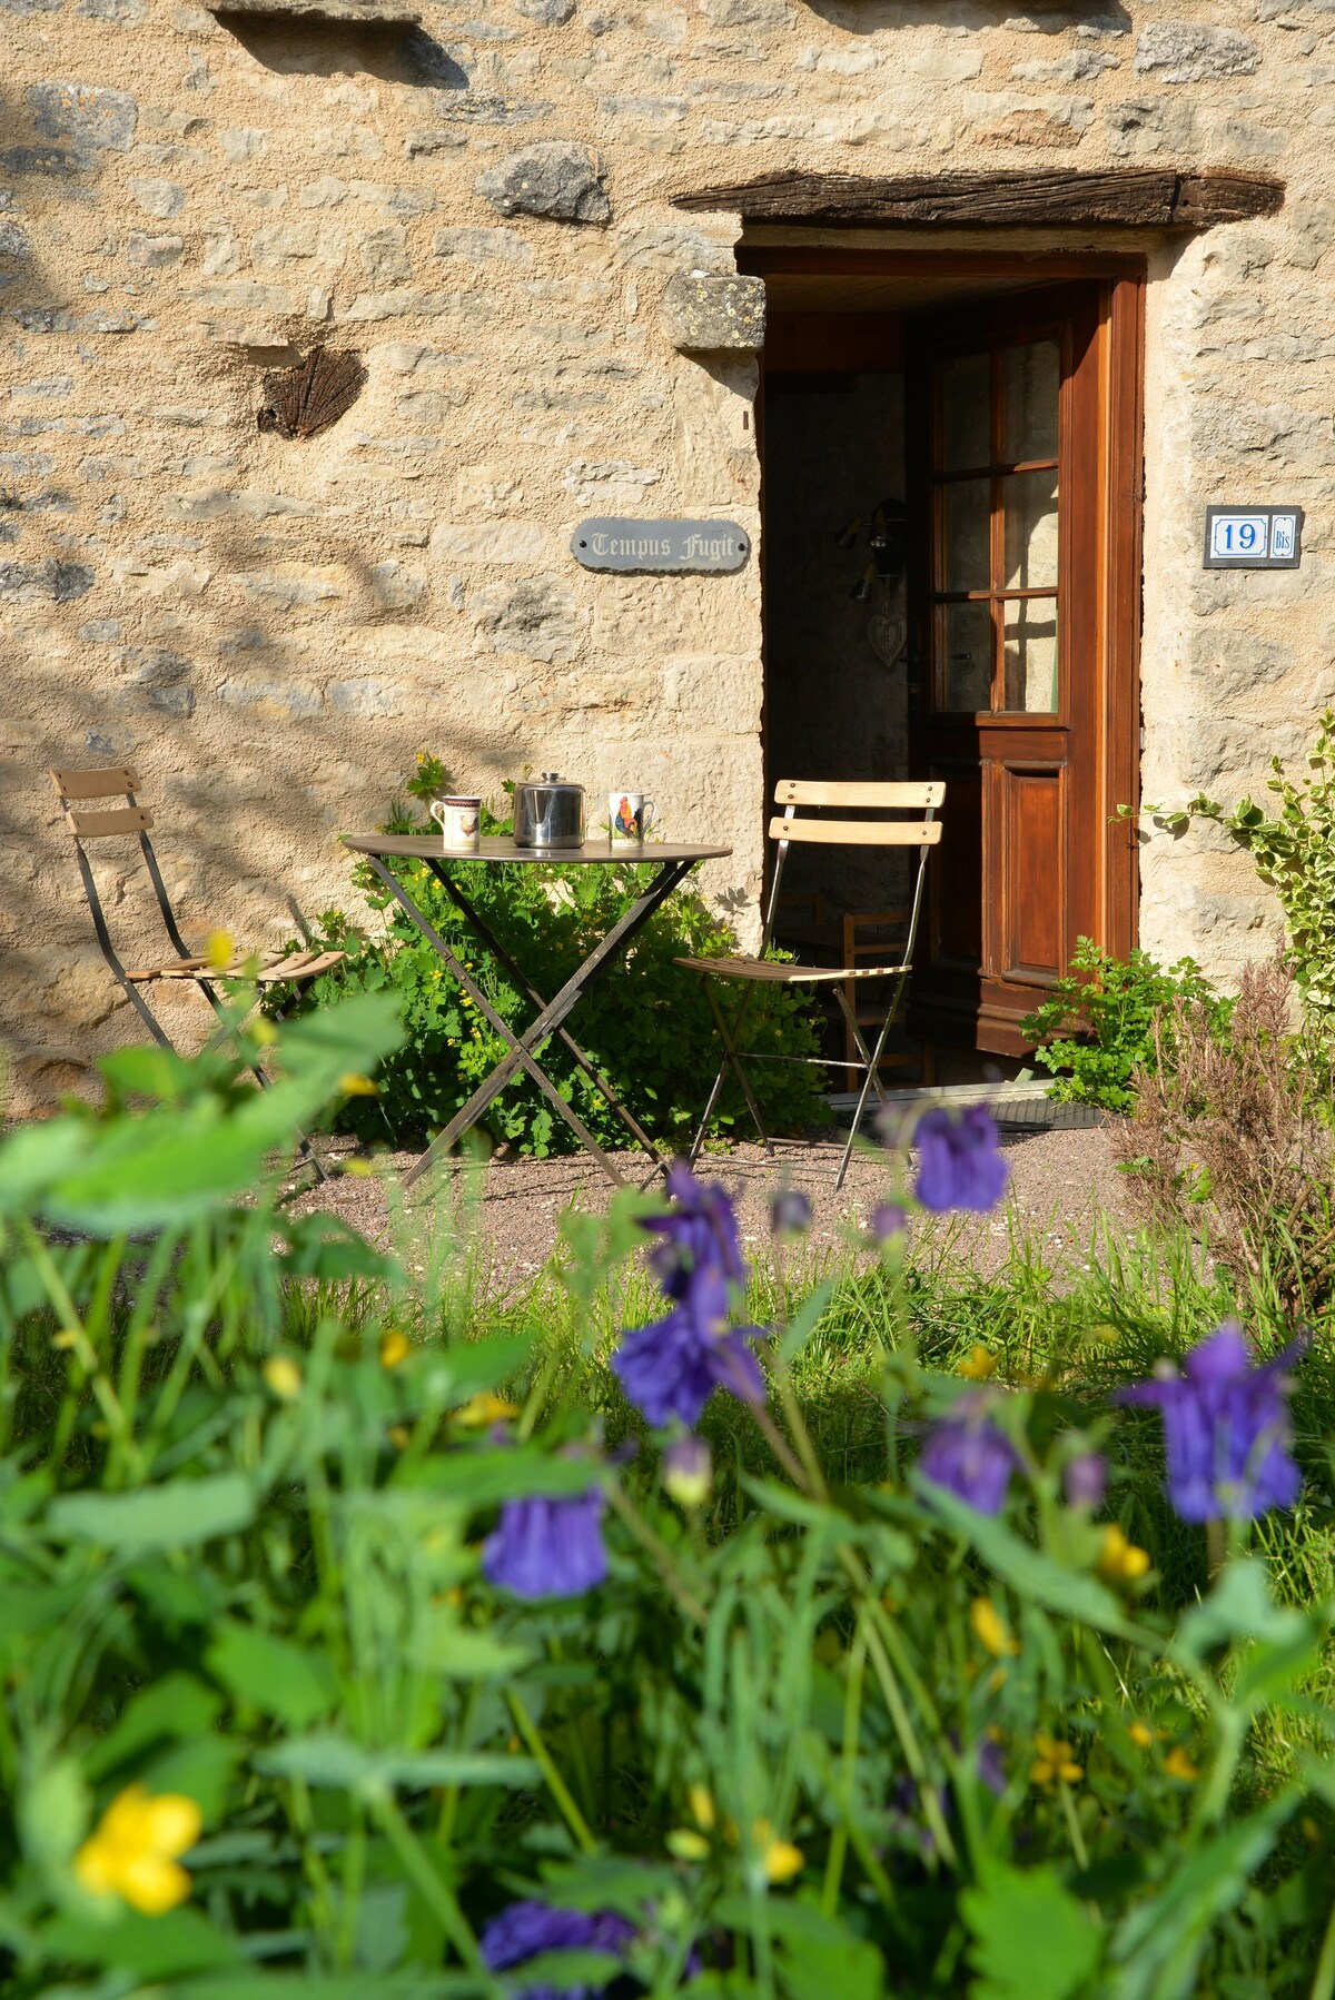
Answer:
[[(1113, 1222), (1129, 1220), (1123, 1178), (1103, 1130), (1017, 1134), (1003, 1144), (1011, 1160), (1005, 1206), (991, 1216), (923, 1226), (941, 1232), (949, 1250), (975, 1270), (987, 1272), (1003, 1260), (1011, 1230), (1041, 1238), (1045, 1262), (1059, 1268), (1063, 1262), (1085, 1262), (1099, 1214)], [(781, 1140), (769, 1160), (759, 1146), (737, 1146), (709, 1156), (701, 1172), (723, 1180), (737, 1194), (741, 1230), (755, 1250), (769, 1242), (769, 1204), (775, 1192), (785, 1184), (803, 1188), (815, 1208), (809, 1250), (819, 1256), (827, 1248), (839, 1248), (849, 1228), (865, 1226), (889, 1192), (881, 1162), (857, 1156), (845, 1186), (835, 1192), (839, 1150), (837, 1138)], [(414, 1158), (408, 1152), (380, 1156), (374, 1176), (330, 1180), (292, 1206), (298, 1214), (330, 1210), (364, 1236), (392, 1236), (402, 1244), (402, 1224), (396, 1218), (406, 1222), (408, 1236), (430, 1232), (460, 1194), (460, 1176), (446, 1166), (404, 1198), (398, 1176)], [(632, 1164), (630, 1156), (622, 1160), (626, 1170)], [(570, 1204), (600, 1210), (612, 1192), (592, 1160), (582, 1156), (492, 1160), (478, 1172), (476, 1184), (480, 1198), (472, 1212), (468, 1204), (460, 1204), (460, 1224), (484, 1252), (490, 1284), (500, 1296), (522, 1288), (546, 1264), (562, 1210)]]

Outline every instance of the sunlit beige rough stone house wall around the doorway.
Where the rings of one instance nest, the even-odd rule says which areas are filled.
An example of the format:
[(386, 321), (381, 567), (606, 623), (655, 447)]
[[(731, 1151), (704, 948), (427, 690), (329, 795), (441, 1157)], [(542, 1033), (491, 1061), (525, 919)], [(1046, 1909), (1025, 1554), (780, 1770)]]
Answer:
[[(132, 760), (186, 914), (256, 942), (294, 928), (286, 898), (348, 900), (334, 836), (420, 748), (492, 796), (526, 764), (634, 782), (669, 834), (735, 846), (709, 888), (753, 904), (757, 564), (644, 580), (568, 554), (592, 512), (759, 528), (755, 362), (681, 354), (658, 318), (673, 276), (735, 268), (737, 220), (683, 216), (683, 188), (789, 166), (1281, 174), (1275, 220), (1153, 258), (1145, 794), (1243, 790), (1335, 686), (1329, 0), (422, 14), (392, 36), (0, 0), (0, 1026), (20, 1110), (128, 1032), (52, 762)], [(360, 400), (318, 438), (262, 432), (264, 374), (316, 340), (358, 350)], [(1233, 496), (1307, 508), (1301, 572), (1201, 572), (1203, 506)], [(142, 936), (142, 876), (102, 866)], [(1269, 922), (1245, 860), (1151, 838), (1153, 950), (1227, 974)]]

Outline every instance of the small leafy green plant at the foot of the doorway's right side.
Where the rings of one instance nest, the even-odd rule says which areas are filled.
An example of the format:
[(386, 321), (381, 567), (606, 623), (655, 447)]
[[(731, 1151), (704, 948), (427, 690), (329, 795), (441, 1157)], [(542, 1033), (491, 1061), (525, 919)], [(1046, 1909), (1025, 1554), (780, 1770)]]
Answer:
[(1069, 972), (1021, 1032), (1039, 1044), (1035, 1062), (1055, 1074), (1055, 1098), (1123, 1112), (1135, 1102), (1135, 1072), (1163, 1052), (1155, 1028), (1175, 1000), (1199, 1002), (1225, 1032), (1233, 1002), (1215, 996), (1193, 958), (1165, 970), (1149, 952), (1113, 958), (1079, 938)]

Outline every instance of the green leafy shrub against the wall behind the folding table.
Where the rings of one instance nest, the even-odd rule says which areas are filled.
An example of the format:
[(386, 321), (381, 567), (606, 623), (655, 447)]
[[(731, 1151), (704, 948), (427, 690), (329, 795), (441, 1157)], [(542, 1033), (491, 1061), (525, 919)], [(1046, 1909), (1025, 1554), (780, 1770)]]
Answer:
[[(424, 758), (410, 790), (434, 798), (442, 790), (436, 760)], [(408, 808), (390, 820), (392, 832), (430, 832)], [(512, 822), (484, 816), (484, 832), (508, 834)], [(496, 1014), (516, 1032), (534, 1016), (528, 998), (482, 948), (474, 932), (422, 862), (394, 864), (404, 888), (456, 956), (474, 974)], [(606, 868), (514, 868), (456, 862), (452, 874), (492, 936), (544, 998), (552, 998), (606, 936), (622, 910), (648, 886), (650, 864)], [(432, 946), (364, 864), (356, 884), (384, 912), (384, 934), (356, 934), (340, 912), (320, 918), (320, 944), (350, 950), (344, 968), (314, 982), (306, 1006), (344, 992), (394, 994), (404, 1022), (402, 1048), (376, 1072), (376, 1098), (350, 1098), (338, 1122), (362, 1140), (416, 1144), (444, 1130), (482, 1078), (504, 1056), (496, 1030), (442, 968)], [(296, 948), (296, 946), (292, 946)], [(630, 952), (614, 960), (570, 1016), (568, 1028), (594, 1068), (606, 1076), (630, 1114), (666, 1146), (687, 1146), (719, 1070), (721, 1044), (699, 974), (677, 958), (717, 958), (737, 950), (737, 938), (691, 888), (658, 906)], [(731, 1002), (725, 1002), (731, 1004)], [(813, 1056), (819, 1034), (809, 1004), (793, 988), (761, 988), (747, 1014), (747, 1038), (767, 1054)], [(630, 1142), (602, 1092), (564, 1044), (548, 1042), (542, 1066), (598, 1144)], [(787, 1062), (757, 1064), (753, 1074), (761, 1114), (771, 1132), (803, 1132), (819, 1116), (823, 1074)], [(544, 1158), (576, 1146), (574, 1134), (538, 1086), (522, 1076), (496, 1098), (484, 1118), (496, 1140), (514, 1152)], [(729, 1078), (715, 1136), (753, 1126), (741, 1092)]]

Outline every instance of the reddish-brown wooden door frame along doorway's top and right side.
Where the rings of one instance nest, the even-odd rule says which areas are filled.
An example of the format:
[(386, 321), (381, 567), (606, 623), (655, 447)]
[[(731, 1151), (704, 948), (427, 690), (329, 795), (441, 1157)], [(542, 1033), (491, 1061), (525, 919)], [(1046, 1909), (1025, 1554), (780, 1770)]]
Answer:
[[(1093, 926), (1097, 942), (1125, 956), (1137, 942), (1137, 842), (1135, 820), (1119, 806), (1139, 804), (1139, 646), (1141, 646), (1141, 510), (1143, 510), (1143, 354), (1145, 260), (1127, 254), (1083, 252), (955, 252), (955, 250), (845, 250), (841, 246), (741, 244), (739, 270), (755, 276), (905, 276), (951, 278), (967, 290), (971, 278), (1015, 278), (1017, 286), (1099, 282), (1099, 576), (1097, 576), (1097, 826)], [(807, 364), (811, 366), (811, 362)], [(801, 362), (799, 362), (801, 368)], [(1023, 762), (1017, 734), (1015, 756)], [(1019, 768), (1017, 768), (1019, 776)], [(979, 838), (989, 838), (987, 826)], [(1041, 998), (1035, 994), (1035, 1002)], [(927, 1040), (947, 1038), (945, 1024), (917, 1020)], [(1023, 1054), (1025, 1040), (1013, 1022), (991, 1022), (979, 1046)]]

